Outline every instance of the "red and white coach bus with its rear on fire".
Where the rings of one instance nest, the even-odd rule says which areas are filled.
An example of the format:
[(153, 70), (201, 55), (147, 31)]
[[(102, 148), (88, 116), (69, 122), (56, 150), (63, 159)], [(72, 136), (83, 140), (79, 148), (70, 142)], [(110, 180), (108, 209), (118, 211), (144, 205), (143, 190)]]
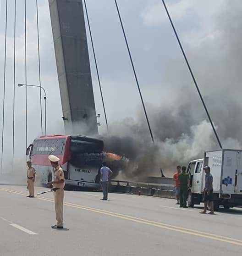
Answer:
[(52, 180), (53, 168), (48, 156), (55, 155), (60, 158), (66, 187), (98, 189), (103, 148), (104, 143), (100, 139), (80, 135), (50, 135), (34, 139), (26, 155), (29, 155), (43, 185)]

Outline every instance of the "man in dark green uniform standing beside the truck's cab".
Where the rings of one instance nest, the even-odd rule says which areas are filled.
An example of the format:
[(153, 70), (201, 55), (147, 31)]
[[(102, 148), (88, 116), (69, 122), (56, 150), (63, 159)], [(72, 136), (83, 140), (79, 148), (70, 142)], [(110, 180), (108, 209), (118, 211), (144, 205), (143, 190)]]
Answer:
[(189, 175), (186, 173), (187, 168), (181, 167), (181, 173), (178, 175), (180, 189), (180, 207), (187, 208), (187, 187), (189, 185)]

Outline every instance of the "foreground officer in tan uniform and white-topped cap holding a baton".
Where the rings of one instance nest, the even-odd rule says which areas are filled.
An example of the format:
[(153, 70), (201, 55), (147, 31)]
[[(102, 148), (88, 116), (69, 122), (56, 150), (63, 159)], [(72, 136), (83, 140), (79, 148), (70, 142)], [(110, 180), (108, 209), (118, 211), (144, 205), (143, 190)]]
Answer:
[(51, 166), (54, 168), (54, 181), (49, 182), (49, 187), (53, 186), (55, 191), (55, 218), (56, 225), (51, 228), (63, 228), (63, 202), (65, 178), (62, 168), (59, 166), (60, 159), (57, 156), (48, 156)]

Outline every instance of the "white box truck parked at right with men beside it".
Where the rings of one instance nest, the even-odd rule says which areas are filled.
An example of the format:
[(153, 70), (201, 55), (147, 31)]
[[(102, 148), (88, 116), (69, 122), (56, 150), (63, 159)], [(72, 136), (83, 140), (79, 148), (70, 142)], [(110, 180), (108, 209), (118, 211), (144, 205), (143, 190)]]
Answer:
[(230, 149), (206, 151), (203, 159), (189, 162), (188, 206), (193, 207), (203, 202), (205, 165), (210, 167), (213, 175), (214, 210), (218, 211), (220, 206), (224, 206), (225, 209), (242, 206), (242, 150)]

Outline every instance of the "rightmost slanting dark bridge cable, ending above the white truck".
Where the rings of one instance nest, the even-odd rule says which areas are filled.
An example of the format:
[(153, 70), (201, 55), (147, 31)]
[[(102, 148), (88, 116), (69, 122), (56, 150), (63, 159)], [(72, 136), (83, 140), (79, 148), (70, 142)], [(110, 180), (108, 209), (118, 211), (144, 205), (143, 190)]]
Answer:
[(190, 71), (190, 73), (191, 73), (192, 80), (193, 80), (193, 82), (194, 82), (194, 84), (195, 84), (195, 86), (196, 86), (196, 88), (197, 88), (198, 95), (199, 95), (199, 97), (200, 97), (200, 99), (201, 99), (201, 101), (202, 101), (202, 103), (203, 103), (203, 107), (204, 107), (205, 112), (206, 112), (206, 114), (207, 114), (207, 116), (208, 116), (208, 118), (209, 118), (209, 122), (210, 122), (210, 124), (211, 124), (211, 126), (212, 126), (212, 128), (213, 128), (215, 137), (216, 137), (216, 139), (217, 139), (217, 141), (218, 141), (218, 144), (220, 145), (220, 148), (222, 149), (223, 147), (222, 147), (222, 144), (221, 144), (221, 142), (220, 142), (219, 136), (218, 136), (218, 134), (217, 134), (217, 132), (216, 132), (216, 129), (214, 128), (214, 124), (213, 124), (213, 122), (212, 122), (212, 118), (211, 118), (210, 115), (209, 115), (209, 111), (208, 111), (208, 109), (207, 109), (207, 107), (206, 107), (206, 105), (205, 105), (205, 102), (204, 102), (204, 100), (203, 100), (203, 96), (202, 96), (202, 94), (201, 94), (201, 92), (200, 92), (200, 89), (198, 88), (198, 83), (197, 83), (197, 81), (196, 81), (196, 79), (195, 79), (195, 77), (194, 77), (194, 75), (193, 75), (192, 68), (190, 67), (190, 64), (189, 64), (189, 62), (188, 62), (188, 60), (187, 60), (186, 53), (185, 53), (185, 51), (183, 50), (183, 47), (182, 47), (182, 45), (181, 45), (181, 41), (180, 41), (180, 39), (179, 39), (179, 37), (178, 37), (178, 34), (177, 34), (177, 32), (176, 32), (176, 28), (175, 28), (175, 26), (174, 26), (174, 24), (173, 24), (173, 22), (172, 22), (171, 17), (170, 17), (170, 13), (169, 13), (169, 11), (168, 11), (166, 5), (165, 5), (165, 0), (162, 0), (162, 2), (163, 2), (163, 5), (164, 5), (164, 7), (165, 7), (166, 14), (167, 14), (167, 16), (168, 16), (168, 18), (169, 18), (169, 20), (170, 20), (171, 27), (173, 28), (173, 31), (174, 31), (174, 33), (175, 33), (175, 35), (176, 35), (176, 39), (177, 39), (177, 41), (178, 41), (178, 44), (179, 44), (179, 46), (180, 46), (180, 48), (181, 48), (181, 52), (182, 52), (182, 54), (183, 54), (183, 57), (184, 57), (184, 59), (185, 59), (185, 61), (186, 61), (186, 63), (187, 63), (187, 67), (188, 67), (188, 69), (189, 69), (189, 71)]

